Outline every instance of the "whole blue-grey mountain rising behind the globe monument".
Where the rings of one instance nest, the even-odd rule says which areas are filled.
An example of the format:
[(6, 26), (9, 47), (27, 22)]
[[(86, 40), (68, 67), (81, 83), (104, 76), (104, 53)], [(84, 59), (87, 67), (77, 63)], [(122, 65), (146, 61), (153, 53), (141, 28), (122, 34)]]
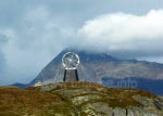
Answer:
[(92, 81), (108, 87), (139, 88), (163, 94), (163, 64), (120, 60), (106, 53), (64, 50), (54, 57), (29, 83), (29, 86), (63, 81), (62, 56), (76, 52), (80, 64), (77, 68), (82, 81)]

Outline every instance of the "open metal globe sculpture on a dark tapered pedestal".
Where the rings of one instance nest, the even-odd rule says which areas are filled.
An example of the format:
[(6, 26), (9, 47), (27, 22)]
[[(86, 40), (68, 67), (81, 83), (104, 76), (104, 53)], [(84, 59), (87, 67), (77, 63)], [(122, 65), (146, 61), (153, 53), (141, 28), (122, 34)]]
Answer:
[(78, 81), (77, 66), (79, 56), (74, 52), (67, 52), (62, 57), (62, 65), (65, 68), (63, 81)]

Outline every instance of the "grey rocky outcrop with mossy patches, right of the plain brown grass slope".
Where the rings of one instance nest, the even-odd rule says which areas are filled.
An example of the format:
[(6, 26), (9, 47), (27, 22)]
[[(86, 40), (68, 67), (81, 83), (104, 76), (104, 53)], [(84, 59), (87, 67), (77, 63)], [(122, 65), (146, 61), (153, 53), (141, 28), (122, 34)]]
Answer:
[(104, 88), (91, 82), (52, 83), (40, 87), (65, 98), (76, 116), (162, 116), (163, 100), (137, 89)]

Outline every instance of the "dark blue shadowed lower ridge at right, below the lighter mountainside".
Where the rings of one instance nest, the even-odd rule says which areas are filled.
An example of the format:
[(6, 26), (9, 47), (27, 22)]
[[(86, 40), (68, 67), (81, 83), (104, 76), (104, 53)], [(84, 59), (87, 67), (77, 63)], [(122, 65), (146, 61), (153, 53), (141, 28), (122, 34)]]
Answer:
[(102, 78), (102, 85), (105, 87), (116, 88), (137, 88), (150, 91), (154, 94), (163, 95), (163, 79), (147, 79), (147, 78)]

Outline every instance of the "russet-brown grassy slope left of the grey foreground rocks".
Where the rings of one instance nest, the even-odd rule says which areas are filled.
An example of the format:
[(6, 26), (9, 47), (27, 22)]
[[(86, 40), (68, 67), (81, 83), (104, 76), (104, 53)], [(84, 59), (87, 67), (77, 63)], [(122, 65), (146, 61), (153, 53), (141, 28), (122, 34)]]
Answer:
[[(58, 94), (22, 90), (18, 88), (0, 88), (0, 116), (52, 116), (52, 114), (70, 114), (68, 101)], [(64, 114), (65, 114), (64, 113)]]

